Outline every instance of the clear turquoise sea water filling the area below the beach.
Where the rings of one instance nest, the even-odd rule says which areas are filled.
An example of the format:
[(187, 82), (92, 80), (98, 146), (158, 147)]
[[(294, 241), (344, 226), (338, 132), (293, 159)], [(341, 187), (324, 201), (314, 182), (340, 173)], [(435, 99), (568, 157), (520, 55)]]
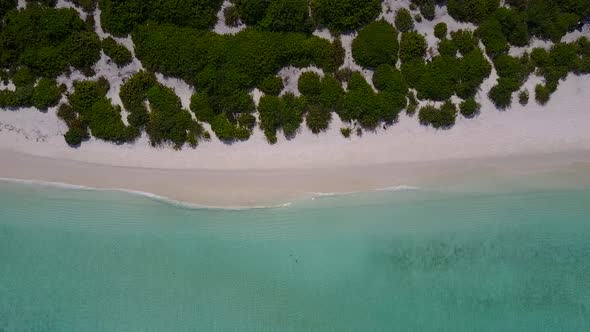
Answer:
[(0, 183), (0, 331), (588, 331), (590, 190), (188, 209)]

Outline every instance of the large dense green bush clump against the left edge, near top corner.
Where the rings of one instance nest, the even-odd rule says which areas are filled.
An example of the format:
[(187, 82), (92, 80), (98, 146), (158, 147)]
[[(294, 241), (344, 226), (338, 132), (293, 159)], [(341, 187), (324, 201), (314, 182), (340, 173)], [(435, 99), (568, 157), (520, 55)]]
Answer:
[(100, 40), (74, 9), (29, 6), (11, 11), (0, 31), (0, 66), (28, 67), (34, 76), (56, 77), (70, 66), (91, 73)]

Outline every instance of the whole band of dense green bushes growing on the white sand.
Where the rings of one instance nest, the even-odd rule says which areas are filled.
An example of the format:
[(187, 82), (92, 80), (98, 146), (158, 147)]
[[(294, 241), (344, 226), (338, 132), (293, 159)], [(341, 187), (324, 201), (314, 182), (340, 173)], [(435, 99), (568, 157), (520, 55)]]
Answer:
[[(325, 131), (333, 113), (350, 123), (341, 128), (345, 137), (353, 130), (360, 136), (363, 130), (396, 122), (403, 109), (409, 115), (418, 111), (423, 125), (450, 128), (458, 112), (466, 118), (479, 113), (474, 97), (492, 65), (498, 79), (486, 93), (500, 109), (509, 107), (515, 94), (519, 103), (528, 103), (529, 91), (522, 85), (531, 73), (544, 80), (534, 91), (540, 104), (549, 101), (570, 73), (590, 73), (590, 41), (560, 42), (590, 17), (590, 0), (412, 0), (413, 12), (399, 8), (395, 13), (395, 27), (375, 20), (380, 0), (233, 0), (224, 9), (226, 24), (248, 26), (234, 35), (211, 31), (222, 0), (68, 1), (88, 13), (99, 5), (105, 31), (131, 34), (146, 68), (121, 87), (129, 125), (120, 107), (106, 97), (104, 79), (75, 83), (58, 109), (69, 128), (66, 142), (73, 146), (91, 134), (124, 143), (145, 132), (153, 145), (180, 149), (210, 137), (203, 122), (226, 142), (248, 139), (259, 125), (274, 143), (277, 132), (290, 139), (303, 122), (315, 134)], [(58, 76), (72, 69), (94, 76), (101, 49), (119, 67), (132, 61), (132, 52), (115, 39), (98, 38), (92, 15), (84, 22), (73, 9), (53, 8), (55, 0), (27, 2), (26, 9), (15, 10), (16, 0), (0, 1), (0, 79), (16, 87), (0, 91), (0, 107), (46, 110), (58, 105), (66, 92), (58, 86)], [(414, 31), (414, 21), (434, 19), (435, 7), (445, 3), (451, 16), (474, 23), (476, 29), (449, 33), (445, 23), (438, 23), (437, 49), (429, 49), (425, 36)], [(318, 27), (333, 34), (358, 31), (352, 56), (374, 71), (375, 89), (360, 73), (339, 69), (344, 62), (341, 42), (314, 36)], [(525, 47), (533, 36), (549, 39), (553, 46), (521, 57), (509, 55), (511, 47)], [(277, 74), (286, 66), (315, 66), (323, 74), (302, 74), (297, 82), (301, 96), (280, 96), (284, 85)], [(155, 72), (196, 87), (190, 110), (182, 108), (173, 90), (158, 83)], [(264, 93), (258, 110), (250, 96), (254, 88)], [(458, 107), (451, 102), (457, 97), (463, 100)], [(418, 99), (428, 106), (418, 110)]]

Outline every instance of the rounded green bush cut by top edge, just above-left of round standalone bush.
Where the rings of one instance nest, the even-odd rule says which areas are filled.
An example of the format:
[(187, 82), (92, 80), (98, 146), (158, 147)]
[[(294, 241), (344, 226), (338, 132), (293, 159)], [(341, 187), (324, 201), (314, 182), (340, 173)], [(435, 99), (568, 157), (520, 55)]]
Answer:
[(333, 32), (356, 30), (381, 12), (380, 0), (311, 0), (311, 10), (318, 24)]

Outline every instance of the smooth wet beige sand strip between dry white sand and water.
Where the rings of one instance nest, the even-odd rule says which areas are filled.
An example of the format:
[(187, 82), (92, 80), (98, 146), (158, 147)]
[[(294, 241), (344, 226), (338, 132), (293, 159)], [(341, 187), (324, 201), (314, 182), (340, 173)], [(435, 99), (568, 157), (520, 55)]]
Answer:
[(276, 206), (322, 195), (414, 187), (495, 191), (516, 183), (530, 189), (590, 185), (590, 151), (276, 170), (134, 168), (0, 153), (0, 178), (144, 192), (212, 207)]

